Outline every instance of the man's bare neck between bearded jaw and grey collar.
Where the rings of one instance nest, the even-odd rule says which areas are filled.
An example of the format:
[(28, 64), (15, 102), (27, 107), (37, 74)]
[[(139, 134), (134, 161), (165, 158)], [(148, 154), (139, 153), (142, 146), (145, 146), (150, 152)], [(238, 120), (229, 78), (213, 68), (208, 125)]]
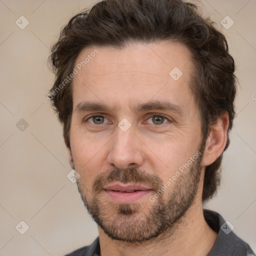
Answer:
[(201, 200), (197, 200), (171, 230), (144, 242), (112, 240), (101, 228), (98, 228), (98, 232), (101, 248), (99, 256), (206, 256), (217, 237), (217, 233), (208, 226), (203, 217)]

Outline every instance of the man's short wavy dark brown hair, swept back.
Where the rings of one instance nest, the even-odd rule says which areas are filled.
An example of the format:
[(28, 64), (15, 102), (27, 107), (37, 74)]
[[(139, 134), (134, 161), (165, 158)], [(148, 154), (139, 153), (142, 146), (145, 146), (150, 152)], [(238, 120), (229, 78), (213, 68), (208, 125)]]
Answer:
[[(203, 138), (225, 111), (230, 131), (236, 92), (234, 61), (224, 35), (213, 22), (203, 19), (194, 4), (182, 0), (103, 0), (72, 17), (51, 48), (49, 60), (55, 82), (48, 98), (63, 123), (67, 146), (70, 147), (72, 79), (61, 89), (59, 85), (72, 73), (79, 52), (86, 46), (121, 48), (130, 41), (166, 40), (182, 43), (192, 53), (194, 74), (190, 88), (200, 111)], [(225, 149), (228, 144), (229, 138)], [(222, 154), (205, 168), (203, 201), (213, 196), (219, 184), (221, 158)]]

